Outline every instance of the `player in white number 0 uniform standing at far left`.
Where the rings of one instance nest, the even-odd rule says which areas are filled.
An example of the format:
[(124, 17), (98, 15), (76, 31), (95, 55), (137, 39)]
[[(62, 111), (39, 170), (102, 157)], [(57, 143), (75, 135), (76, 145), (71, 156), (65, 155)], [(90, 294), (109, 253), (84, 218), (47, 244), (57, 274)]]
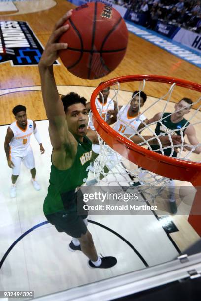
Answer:
[(10, 196), (16, 196), (16, 181), (20, 174), (21, 162), (30, 169), (32, 183), (36, 190), (40, 190), (40, 185), (35, 181), (36, 169), (33, 151), (30, 146), (30, 136), (34, 133), (35, 139), (40, 145), (41, 154), (45, 152), (36, 123), (27, 119), (26, 107), (18, 105), (13, 108), (16, 122), (13, 122), (7, 129), (5, 136), (4, 148), (8, 161), (8, 166), (12, 168), (12, 186)]

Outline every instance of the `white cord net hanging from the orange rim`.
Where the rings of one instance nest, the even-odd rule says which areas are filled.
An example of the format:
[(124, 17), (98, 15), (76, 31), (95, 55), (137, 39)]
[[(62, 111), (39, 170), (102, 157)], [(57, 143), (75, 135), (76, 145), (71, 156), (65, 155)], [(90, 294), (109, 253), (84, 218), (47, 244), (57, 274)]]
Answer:
[[(137, 94), (135, 94), (133, 96), (133, 98), (136, 95), (139, 95), (139, 97), (141, 97), (140, 93), (145, 89), (145, 83), (146, 83), (145, 80), (140, 82), (139, 89), (138, 89), (139, 92)], [(145, 127), (143, 129), (136, 130), (130, 123), (124, 122), (124, 120), (121, 120), (121, 122), (124, 123), (126, 128), (130, 127), (133, 131), (133, 134), (131, 134), (129, 137), (128, 137), (128, 135), (127, 136), (125, 135), (126, 131), (121, 132), (121, 135), (126, 137), (129, 140), (131, 140), (131, 138), (134, 135), (138, 135), (144, 141), (144, 143), (139, 143), (138, 145), (143, 145), (151, 151), (161, 151), (162, 154), (164, 154), (164, 150), (166, 148), (168, 148), (168, 149), (171, 148), (170, 156), (173, 155), (174, 148), (178, 147), (179, 152), (177, 153), (177, 158), (182, 159), (182, 160), (201, 162), (201, 161), (199, 161), (200, 156), (198, 156), (198, 155), (197, 155), (196, 160), (191, 158), (193, 151), (196, 150), (196, 148), (200, 147), (201, 143), (199, 143), (198, 145), (190, 145), (187, 143), (185, 144), (185, 140), (184, 140), (184, 130), (188, 127), (188, 122), (190, 122), (196, 128), (198, 128), (198, 125), (201, 124), (201, 118), (199, 119), (199, 121), (198, 121), (198, 119), (196, 119), (196, 121), (194, 121), (196, 115), (201, 114), (201, 112), (199, 111), (201, 108), (201, 97), (191, 105), (186, 103), (186, 105), (188, 107), (198, 104), (198, 109), (197, 110), (192, 109), (190, 111), (191, 116), (190, 116), (188, 122), (186, 122), (186, 124), (184, 124), (184, 126), (182, 128), (180, 128), (180, 135), (181, 135), (181, 140), (182, 140), (181, 144), (174, 145), (174, 147), (173, 147), (173, 142), (172, 142), (172, 138), (171, 138), (171, 135), (175, 134), (175, 132), (177, 132), (177, 134), (178, 134), (178, 129), (170, 130), (164, 125), (164, 123), (162, 124), (163, 119), (167, 118), (167, 116), (163, 118), (163, 113), (168, 111), (167, 106), (168, 106), (168, 103), (172, 99), (172, 92), (175, 89), (175, 86), (176, 86), (175, 83), (172, 84), (165, 95), (163, 95), (159, 99), (156, 99), (154, 101), (154, 103), (152, 103), (145, 110), (143, 110), (143, 107), (140, 108), (140, 106), (139, 106), (139, 112), (141, 112), (141, 113), (139, 113), (139, 115), (136, 116), (135, 119), (140, 120), (141, 123), (144, 124)], [(112, 87), (110, 87), (110, 91), (111, 91), (111, 89), (114, 90), (114, 96), (113, 96), (112, 100), (115, 100), (117, 102), (118, 113), (119, 113), (119, 105), (121, 105), (121, 104), (119, 104), (119, 100), (118, 100), (118, 94), (120, 91), (120, 83), (119, 82), (115, 83)], [(103, 95), (101, 92), (100, 92), (100, 94), (103, 98)], [(131, 103), (133, 98), (131, 98), (128, 101), (128, 105)], [(167, 99), (167, 101), (164, 101), (164, 99)], [(148, 101), (149, 100), (147, 100), (146, 103)], [(146, 116), (146, 113), (148, 112), (148, 110), (150, 110), (151, 108), (153, 109), (153, 107), (154, 107), (154, 112), (155, 112), (154, 115), (156, 113), (158, 113), (159, 111), (156, 108), (157, 108), (157, 104), (160, 101), (163, 101), (165, 103), (163, 110), (160, 110), (162, 112), (161, 119), (156, 122), (153, 122), (151, 124), (148, 124), (148, 125), (145, 124), (145, 122), (140, 119), (140, 116), (142, 114), (144, 114)], [(103, 106), (102, 106), (102, 108), (103, 108)], [(106, 110), (107, 109), (108, 108), (106, 108)], [(182, 109), (179, 109), (172, 113), (179, 112), (181, 110)], [(170, 113), (168, 116), (170, 116), (172, 113)], [(100, 116), (102, 117), (102, 110), (100, 112)], [(104, 114), (104, 116), (105, 116), (104, 117), (104, 120), (105, 120), (106, 114)], [(117, 120), (118, 120), (118, 118), (121, 118), (121, 116), (120, 117), (118, 117), (118, 116), (119, 116), (119, 114), (117, 115)], [(186, 116), (184, 116), (184, 118), (186, 119)], [(90, 112), (90, 119), (92, 120), (92, 112)], [(132, 119), (132, 122), (133, 122), (133, 119)], [(159, 138), (164, 134), (160, 134), (159, 136), (156, 135), (155, 127), (156, 127), (157, 122), (160, 122), (160, 125), (166, 128), (166, 135), (169, 136), (171, 146), (166, 146), (166, 147), (162, 146)], [(113, 125), (112, 125), (112, 127), (113, 127)], [(146, 141), (143, 138), (143, 136), (145, 136), (145, 135), (152, 135), (154, 138), (157, 139), (157, 141), (158, 141), (158, 149), (157, 150), (152, 150), (152, 147), (151, 147), (152, 139), (149, 139)], [(164, 189), (164, 186), (167, 186), (170, 183), (170, 179), (162, 177), (157, 174), (154, 174), (148, 170), (142, 170), (141, 167), (138, 167), (138, 166), (134, 165), (132, 162), (129, 162), (127, 159), (123, 158), (116, 151), (114, 151), (112, 148), (110, 148), (108, 145), (106, 145), (106, 143), (102, 140), (102, 138), (100, 137), (99, 134), (98, 134), (98, 138), (99, 138), (99, 144), (100, 144), (100, 153), (99, 153), (99, 156), (94, 161), (94, 170), (93, 170), (93, 176), (98, 182), (97, 185), (129, 186), (129, 189), (130, 188), (136, 189), (136, 187), (133, 185), (134, 185), (134, 183), (137, 182), (138, 184), (140, 183), (140, 185), (137, 187), (139, 189), (139, 193), (145, 193), (146, 201), (147, 201), (147, 200), (154, 200), (156, 195), (158, 195), (161, 192), (161, 190)], [(188, 146), (190, 148), (190, 150), (183, 151), (185, 146)], [(172, 178), (173, 178), (173, 176), (172, 176)], [(156, 189), (156, 187), (157, 187), (157, 189)]]

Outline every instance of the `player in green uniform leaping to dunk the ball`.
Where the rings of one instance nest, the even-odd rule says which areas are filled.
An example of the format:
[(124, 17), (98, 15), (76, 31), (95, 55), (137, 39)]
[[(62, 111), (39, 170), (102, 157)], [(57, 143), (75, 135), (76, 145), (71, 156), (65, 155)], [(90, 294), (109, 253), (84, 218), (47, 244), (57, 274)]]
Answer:
[[(78, 199), (79, 187), (86, 182), (92, 143), (98, 143), (97, 134), (87, 129), (86, 99), (75, 93), (61, 99), (53, 72), (58, 50), (68, 46), (67, 43), (58, 43), (58, 39), (69, 29), (69, 25), (63, 24), (71, 15), (70, 10), (56, 23), (39, 62), (42, 96), (53, 146), (50, 185), (43, 208), (46, 218), (59, 232), (73, 237), (69, 245), (71, 250), (81, 250), (93, 268), (111, 268), (117, 263), (116, 258), (97, 255), (92, 235), (86, 227), (87, 214), (81, 216), (77, 212), (78, 207), (83, 206), (83, 198)], [(175, 137), (175, 143), (178, 143), (176, 140)], [(139, 137), (134, 138), (134, 142), (141, 141)], [(169, 144), (168, 137), (163, 142)]]

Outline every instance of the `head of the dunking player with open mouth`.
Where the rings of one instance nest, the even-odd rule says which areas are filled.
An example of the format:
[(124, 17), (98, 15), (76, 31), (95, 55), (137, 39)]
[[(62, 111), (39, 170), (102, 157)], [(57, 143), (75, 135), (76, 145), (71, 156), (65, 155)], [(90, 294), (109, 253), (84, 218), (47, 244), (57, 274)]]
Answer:
[(88, 125), (86, 99), (73, 92), (62, 96), (61, 99), (69, 131), (78, 137), (85, 136)]

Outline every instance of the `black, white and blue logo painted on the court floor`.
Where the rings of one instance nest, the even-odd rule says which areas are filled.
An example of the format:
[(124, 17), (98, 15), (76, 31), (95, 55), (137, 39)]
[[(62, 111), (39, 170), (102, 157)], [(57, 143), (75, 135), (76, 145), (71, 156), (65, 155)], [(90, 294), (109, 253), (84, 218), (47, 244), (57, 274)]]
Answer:
[(43, 47), (27, 22), (0, 21), (0, 63), (37, 65), (42, 53)]

